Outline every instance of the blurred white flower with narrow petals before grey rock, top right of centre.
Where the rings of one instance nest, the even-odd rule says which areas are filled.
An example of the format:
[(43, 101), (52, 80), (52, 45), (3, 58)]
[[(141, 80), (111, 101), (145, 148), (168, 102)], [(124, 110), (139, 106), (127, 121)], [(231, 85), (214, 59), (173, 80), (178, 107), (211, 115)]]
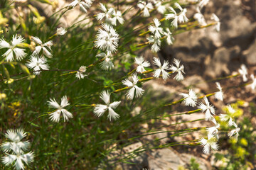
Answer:
[(176, 6), (176, 8), (180, 10), (180, 13), (177, 14), (174, 8), (170, 6), (169, 10), (171, 11), (171, 13), (166, 15), (166, 19), (167, 20), (173, 19), (173, 21), (171, 22), (171, 26), (178, 28), (178, 22), (179, 23), (188, 22), (188, 18), (186, 17), (187, 9), (182, 8), (178, 3), (175, 3), (174, 5)]

